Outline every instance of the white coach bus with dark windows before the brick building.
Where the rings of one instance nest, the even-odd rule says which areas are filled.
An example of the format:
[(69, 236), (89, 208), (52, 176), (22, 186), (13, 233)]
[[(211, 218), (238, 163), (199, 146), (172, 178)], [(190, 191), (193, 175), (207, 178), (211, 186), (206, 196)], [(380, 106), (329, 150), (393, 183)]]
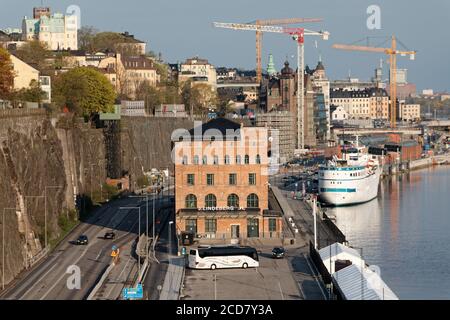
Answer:
[(189, 251), (189, 268), (224, 269), (259, 267), (255, 248), (239, 246), (214, 246)]

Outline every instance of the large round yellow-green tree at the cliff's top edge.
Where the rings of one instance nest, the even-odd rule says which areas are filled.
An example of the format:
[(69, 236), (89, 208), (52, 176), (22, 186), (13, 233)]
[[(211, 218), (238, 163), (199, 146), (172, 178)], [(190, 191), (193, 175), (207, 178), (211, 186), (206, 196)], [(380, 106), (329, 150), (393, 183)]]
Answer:
[(59, 75), (54, 81), (53, 92), (59, 107), (91, 118), (99, 112), (112, 112), (116, 99), (109, 80), (89, 67), (77, 67)]

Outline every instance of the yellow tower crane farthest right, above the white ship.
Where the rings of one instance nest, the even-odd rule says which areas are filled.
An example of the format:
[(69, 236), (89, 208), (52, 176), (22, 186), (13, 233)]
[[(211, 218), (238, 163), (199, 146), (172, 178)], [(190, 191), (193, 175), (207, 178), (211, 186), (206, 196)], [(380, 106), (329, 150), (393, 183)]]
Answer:
[(395, 128), (397, 125), (397, 55), (398, 54), (400, 54), (401, 56), (409, 55), (410, 59), (414, 60), (417, 51), (397, 50), (397, 39), (395, 38), (395, 36), (391, 37), (390, 48), (378, 48), (378, 47), (346, 45), (346, 44), (334, 44), (333, 48), (349, 51), (378, 52), (378, 53), (385, 53), (389, 56), (390, 96), (391, 96), (390, 121), (391, 121), (391, 128)]

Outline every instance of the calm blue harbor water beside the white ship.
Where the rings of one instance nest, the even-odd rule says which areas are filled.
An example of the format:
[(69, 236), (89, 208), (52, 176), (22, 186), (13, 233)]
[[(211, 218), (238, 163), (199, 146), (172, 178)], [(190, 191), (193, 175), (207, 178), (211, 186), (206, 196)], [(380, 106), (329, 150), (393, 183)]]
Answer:
[(400, 299), (450, 299), (450, 166), (386, 178), (377, 199), (328, 212)]

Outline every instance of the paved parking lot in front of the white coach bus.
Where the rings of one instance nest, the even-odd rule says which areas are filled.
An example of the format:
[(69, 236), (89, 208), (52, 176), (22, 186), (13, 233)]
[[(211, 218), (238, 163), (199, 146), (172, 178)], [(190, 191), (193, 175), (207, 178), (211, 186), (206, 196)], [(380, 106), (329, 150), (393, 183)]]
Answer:
[[(182, 299), (185, 300), (298, 300), (299, 286), (288, 259), (272, 259), (270, 250), (259, 255), (259, 268), (186, 269)], [(216, 279), (216, 281), (214, 281)]]

